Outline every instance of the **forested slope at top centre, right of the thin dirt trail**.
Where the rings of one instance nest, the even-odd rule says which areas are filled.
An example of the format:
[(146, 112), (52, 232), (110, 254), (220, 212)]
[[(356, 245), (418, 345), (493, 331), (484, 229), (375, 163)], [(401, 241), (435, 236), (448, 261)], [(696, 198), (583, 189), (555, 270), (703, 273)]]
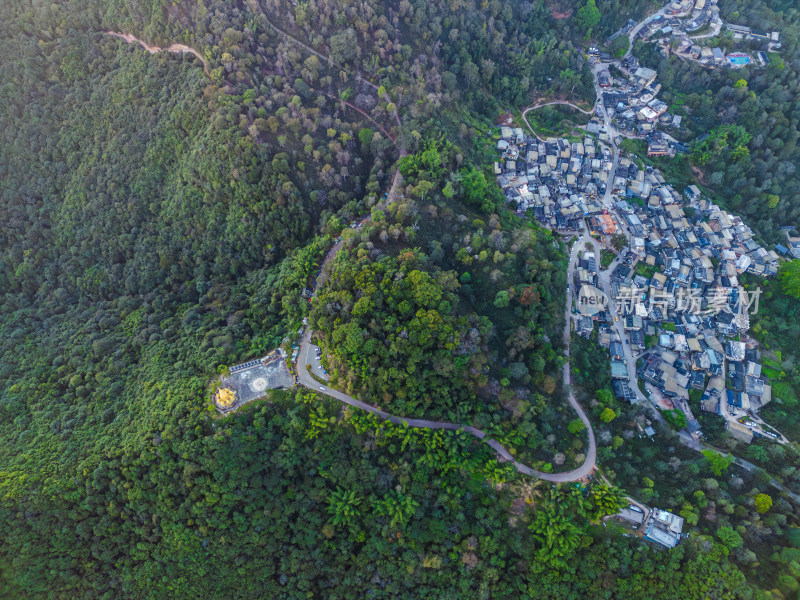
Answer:
[[(490, 110), (524, 104), (536, 90), (594, 94), (580, 53), (554, 30), (556, 20), (542, 1), (401, 0), (357, 8), (344, 0), (262, 0), (262, 6), (338, 63), (401, 83), (425, 108), (451, 96)], [(337, 16), (347, 28), (334, 33), (341, 28)]]

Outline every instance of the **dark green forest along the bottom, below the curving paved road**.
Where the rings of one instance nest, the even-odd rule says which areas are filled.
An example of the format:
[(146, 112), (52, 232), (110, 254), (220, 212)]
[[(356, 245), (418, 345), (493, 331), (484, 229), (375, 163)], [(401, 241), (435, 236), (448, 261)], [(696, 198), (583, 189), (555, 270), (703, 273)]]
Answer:
[(138, 452), (109, 450), (65, 488), (4, 509), (4, 595), (673, 598), (745, 591), (715, 540), (654, 551), (591, 525), (604, 514), (593, 493), (587, 499), (575, 488), (548, 491), (527, 481), (500, 489), (505, 473), (476, 449), (465, 452), (469, 442), (454, 434), (414, 439), (379, 430), (361, 413), (344, 421), (339, 414), (338, 403), (276, 394), (224, 423), (189, 419)]

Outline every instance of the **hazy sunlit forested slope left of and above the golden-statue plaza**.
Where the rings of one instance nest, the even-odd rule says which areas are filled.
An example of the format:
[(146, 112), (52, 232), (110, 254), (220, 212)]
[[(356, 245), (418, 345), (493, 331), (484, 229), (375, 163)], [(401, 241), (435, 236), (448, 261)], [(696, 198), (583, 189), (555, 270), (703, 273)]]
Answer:
[[(358, 113), (304, 107), (275, 79), (270, 97), (227, 93), (187, 59), (91, 30), (39, 40), (4, 16), (2, 453), (64, 475), (73, 448), (96, 460), (106, 436), (202, 410), (208, 373), (282, 338), (280, 304), (256, 320), (252, 297), (302, 286), (276, 265), (379, 185), (384, 146), (362, 152)], [(265, 104), (277, 136), (258, 128)]]

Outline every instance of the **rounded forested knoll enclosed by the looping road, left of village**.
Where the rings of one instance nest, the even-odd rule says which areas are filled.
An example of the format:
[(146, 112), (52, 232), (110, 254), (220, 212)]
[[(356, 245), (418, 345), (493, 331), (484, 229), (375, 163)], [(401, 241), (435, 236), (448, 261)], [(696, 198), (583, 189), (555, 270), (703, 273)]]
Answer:
[(403, 199), (344, 233), (312, 311), (333, 382), (394, 414), (496, 431), (542, 467), (563, 452), (580, 463), (555, 435), (569, 414), (553, 376), (564, 255), (457, 162), (437, 142), (403, 158)]

